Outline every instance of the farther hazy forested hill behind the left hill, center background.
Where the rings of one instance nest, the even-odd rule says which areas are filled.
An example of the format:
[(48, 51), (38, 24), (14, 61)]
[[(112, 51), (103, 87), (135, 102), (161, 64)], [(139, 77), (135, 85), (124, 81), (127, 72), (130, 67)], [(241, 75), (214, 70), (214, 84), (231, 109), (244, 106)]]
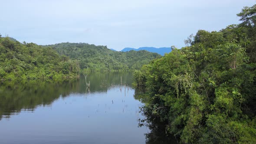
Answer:
[(58, 43), (44, 47), (52, 47), (60, 55), (78, 60), (81, 69), (92, 71), (140, 69), (142, 65), (161, 57), (157, 53), (148, 51), (115, 52), (107, 46), (95, 46), (88, 43)]

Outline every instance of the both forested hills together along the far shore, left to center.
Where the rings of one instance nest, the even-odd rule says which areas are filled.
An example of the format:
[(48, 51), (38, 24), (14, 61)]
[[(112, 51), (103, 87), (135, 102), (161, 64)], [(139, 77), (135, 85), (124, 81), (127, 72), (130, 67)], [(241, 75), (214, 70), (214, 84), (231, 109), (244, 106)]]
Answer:
[(38, 46), (0, 36), (0, 82), (69, 79), (79, 76), (80, 68), (91, 71), (134, 70), (160, 57), (147, 51), (114, 52), (106, 46), (86, 43)]

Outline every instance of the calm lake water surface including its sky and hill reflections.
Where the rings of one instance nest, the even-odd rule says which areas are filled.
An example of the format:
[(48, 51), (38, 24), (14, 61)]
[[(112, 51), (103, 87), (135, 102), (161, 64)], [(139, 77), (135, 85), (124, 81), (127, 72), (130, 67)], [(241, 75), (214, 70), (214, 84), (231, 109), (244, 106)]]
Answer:
[(132, 73), (93, 73), (89, 81), (0, 86), (0, 144), (146, 143)]

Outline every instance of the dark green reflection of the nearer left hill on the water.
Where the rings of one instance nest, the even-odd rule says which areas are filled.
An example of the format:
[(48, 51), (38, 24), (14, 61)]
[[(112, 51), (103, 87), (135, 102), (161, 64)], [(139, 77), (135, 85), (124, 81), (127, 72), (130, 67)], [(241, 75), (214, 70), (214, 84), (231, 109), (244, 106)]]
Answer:
[(10, 118), (20, 111), (34, 111), (38, 105), (49, 106), (60, 97), (69, 95), (71, 82), (30, 81), (25, 84), (0, 86), (0, 119)]

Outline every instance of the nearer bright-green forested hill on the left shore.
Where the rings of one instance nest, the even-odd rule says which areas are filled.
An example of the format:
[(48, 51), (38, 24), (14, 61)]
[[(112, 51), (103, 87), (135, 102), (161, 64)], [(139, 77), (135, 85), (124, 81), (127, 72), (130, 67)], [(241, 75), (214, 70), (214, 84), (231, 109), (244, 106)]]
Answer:
[(79, 75), (79, 63), (54, 49), (0, 36), (0, 83), (24, 79), (69, 79)]

